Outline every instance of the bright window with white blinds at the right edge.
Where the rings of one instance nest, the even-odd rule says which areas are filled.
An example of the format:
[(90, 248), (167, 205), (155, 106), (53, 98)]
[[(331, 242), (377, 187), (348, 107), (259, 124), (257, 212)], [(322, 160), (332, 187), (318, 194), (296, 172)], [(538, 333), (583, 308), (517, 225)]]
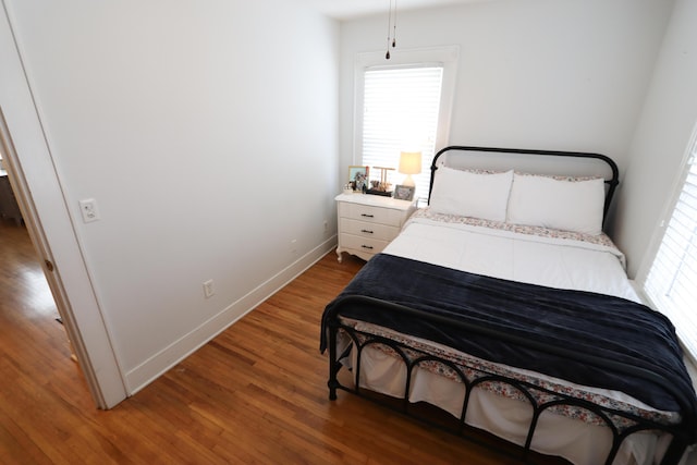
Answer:
[(697, 357), (697, 130), (689, 147), (681, 188), (644, 291), (673, 321), (681, 341)]

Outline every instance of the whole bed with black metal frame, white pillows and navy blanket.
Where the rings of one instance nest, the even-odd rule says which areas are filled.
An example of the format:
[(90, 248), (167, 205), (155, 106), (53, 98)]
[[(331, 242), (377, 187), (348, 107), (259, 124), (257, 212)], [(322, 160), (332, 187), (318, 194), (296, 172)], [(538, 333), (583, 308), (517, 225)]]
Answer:
[(697, 400), (674, 328), (602, 231), (617, 183), (599, 154), (440, 150), (428, 207), (322, 315), (330, 399), (428, 421), (435, 406), (523, 460), (681, 463)]

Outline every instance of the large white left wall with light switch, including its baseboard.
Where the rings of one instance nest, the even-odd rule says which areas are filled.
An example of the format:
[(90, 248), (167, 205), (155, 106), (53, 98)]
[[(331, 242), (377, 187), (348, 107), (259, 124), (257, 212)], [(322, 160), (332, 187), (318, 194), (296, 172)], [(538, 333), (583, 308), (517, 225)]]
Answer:
[(132, 393), (333, 245), (339, 26), (286, 0), (5, 3)]

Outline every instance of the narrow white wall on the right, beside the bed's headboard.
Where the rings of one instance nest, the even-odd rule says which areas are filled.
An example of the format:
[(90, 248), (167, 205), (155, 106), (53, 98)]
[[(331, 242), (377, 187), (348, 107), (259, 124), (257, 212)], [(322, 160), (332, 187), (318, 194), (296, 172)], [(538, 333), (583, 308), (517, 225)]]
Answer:
[(697, 123), (697, 2), (677, 0), (620, 189), (615, 242), (634, 277), (652, 259), (692, 131)]

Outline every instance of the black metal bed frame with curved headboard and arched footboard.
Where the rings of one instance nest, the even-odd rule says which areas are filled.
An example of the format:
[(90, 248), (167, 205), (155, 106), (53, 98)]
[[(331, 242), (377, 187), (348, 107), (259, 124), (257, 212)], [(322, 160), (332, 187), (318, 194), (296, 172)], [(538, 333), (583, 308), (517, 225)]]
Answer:
[[(473, 150), (478, 152), (504, 152), (504, 154), (529, 154), (529, 155), (542, 155), (542, 156), (562, 156), (562, 157), (585, 157), (585, 158), (596, 158), (596, 159), (602, 160), (610, 166), (612, 171), (612, 178), (606, 181), (609, 186), (608, 194), (606, 197), (606, 204), (604, 204), (606, 215), (610, 207), (612, 194), (614, 193), (614, 189), (619, 183), (617, 167), (610, 158), (599, 154), (452, 146), (452, 147), (447, 147), (440, 150), (433, 158), (433, 162), (431, 166), (431, 186), (432, 186), (436, 170), (438, 169), (437, 168), (438, 158), (442, 154), (449, 150)], [(429, 195), (430, 195), (430, 189), (429, 189)], [(441, 323), (455, 326), (462, 329), (463, 331), (484, 334), (490, 338), (496, 338), (506, 342), (515, 343), (521, 346), (541, 350), (561, 357), (566, 357), (577, 362), (582, 362), (587, 365), (602, 367), (602, 368), (612, 368), (613, 370), (622, 374), (639, 377), (646, 380), (647, 382), (662, 386), (664, 389), (667, 389), (669, 392), (671, 392), (674, 395), (676, 402), (681, 406), (681, 423), (676, 425), (659, 424), (644, 417), (638, 417), (627, 412), (622, 412), (613, 408), (599, 406), (588, 401), (570, 396), (567, 394), (551, 392), (543, 388), (540, 388), (535, 384), (530, 384), (528, 382), (525, 382), (518, 379), (509, 378), (498, 374), (486, 372), (477, 367), (469, 367), (469, 366), (466, 367), (470, 370), (478, 372), (478, 376), (469, 379), (467, 378), (467, 376), (465, 376), (465, 372), (462, 367), (455, 365), (454, 363), (448, 359), (424, 353), (415, 347), (411, 347), (406, 344), (403, 344), (390, 339), (386, 339), (383, 336), (356, 330), (353, 327), (345, 325), (344, 322), (342, 322), (342, 319), (341, 319), (342, 309), (346, 307), (355, 306), (355, 305), (368, 305), (368, 306), (375, 307), (376, 311), (380, 311), (381, 309), (389, 310), (389, 311), (398, 311), (398, 313), (404, 314), (405, 316), (416, 316), (418, 318), (424, 318), (426, 320), (438, 321)], [(637, 367), (619, 363), (615, 360), (602, 359), (599, 357), (590, 356), (588, 354), (573, 353), (571, 351), (564, 350), (563, 347), (549, 346), (549, 345), (539, 343), (538, 341), (530, 341), (523, 338), (514, 336), (501, 331), (492, 330), (484, 326), (478, 326), (472, 322), (462, 322), (462, 321), (451, 320), (443, 316), (426, 314), (424, 311), (409, 308), (403, 305), (398, 305), (398, 304), (393, 304), (390, 302), (384, 302), (384, 301), (380, 301), (380, 299), (376, 299), (367, 296), (353, 295), (353, 296), (342, 297), (335, 303), (335, 305), (333, 305), (332, 309), (328, 311), (328, 314), (326, 315), (326, 321), (327, 321), (327, 330), (329, 332), (328, 334), (328, 340), (329, 340), (328, 387), (329, 387), (330, 400), (337, 399), (338, 390), (344, 390), (353, 394), (376, 401), (374, 396), (366, 395), (370, 392), (369, 390), (360, 388), (360, 358), (362, 358), (360, 354), (365, 347), (368, 347), (375, 344), (383, 344), (390, 347), (396, 354), (399, 354), (400, 358), (402, 359), (402, 362), (406, 367), (404, 396), (403, 399), (401, 399), (400, 406), (398, 407), (398, 409), (411, 417), (425, 420), (425, 418), (420, 417), (419, 415), (416, 415), (413, 412), (413, 404), (411, 404), (411, 402), (408, 401), (408, 395), (411, 390), (409, 388), (412, 383), (412, 372), (416, 367), (418, 367), (424, 362), (437, 362), (442, 364), (443, 366), (449, 367), (451, 370), (457, 374), (457, 377), (465, 384), (465, 388), (466, 388), (465, 397), (463, 400), (463, 409), (458, 418), (458, 427), (456, 428), (455, 431), (452, 431), (452, 432), (456, 432), (457, 435), (462, 436), (465, 427), (467, 426), (465, 423), (465, 416), (467, 413), (467, 406), (470, 399), (470, 393), (474, 388), (481, 384), (482, 382), (497, 381), (497, 382), (509, 384), (514, 390), (518, 391), (529, 402), (531, 407), (531, 413), (533, 413), (528, 431), (527, 431), (525, 445), (521, 446), (522, 448), (521, 458), (523, 461), (529, 460), (529, 452), (531, 451), (533, 438), (535, 436), (536, 427), (540, 418), (540, 415), (547, 409), (558, 405), (567, 405), (567, 406), (573, 406), (577, 408), (583, 408), (592, 413), (598, 418), (602, 419), (604, 425), (612, 432), (612, 438), (613, 438), (611, 450), (609, 451), (608, 456), (606, 458), (607, 465), (612, 464), (624, 439), (626, 439), (628, 436), (638, 431), (658, 430), (658, 431), (664, 431), (667, 433), (672, 435), (673, 439), (661, 462), (663, 465), (677, 464), (683, 453), (687, 449), (687, 446), (697, 441), (697, 413), (694, 409), (695, 404), (693, 400), (686, 399), (685, 395), (677, 388), (674, 387), (671, 380), (663, 379), (657, 374), (653, 374), (651, 371), (648, 371), (641, 368), (637, 368)], [(352, 341), (351, 346), (342, 354), (339, 354), (337, 348), (338, 334), (340, 331), (345, 332), (345, 334), (347, 334)], [(339, 377), (340, 370), (343, 367), (342, 360), (348, 355), (351, 350), (357, 351), (357, 356), (356, 356), (357, 366), (353, 367), (353, 370), (354, 370), (353, 386), (344, 386), (339, 381), (338, 377)], [(418, 354), (418, 355), (414, 356), (409, 354)], [(535, 392), (546, 392), (551, 394), (554, 399), (552, 401), (538, 403), (536, 400)], [(387, 405), (388, 407), (394, 408), (393, 405), (386, 404), (384, 402), (381, 402), (381, 401), (376, 401), (376, 402), (382, 405)], [(467, 427), (472, 428), (470, 426), (467, 426)]]

